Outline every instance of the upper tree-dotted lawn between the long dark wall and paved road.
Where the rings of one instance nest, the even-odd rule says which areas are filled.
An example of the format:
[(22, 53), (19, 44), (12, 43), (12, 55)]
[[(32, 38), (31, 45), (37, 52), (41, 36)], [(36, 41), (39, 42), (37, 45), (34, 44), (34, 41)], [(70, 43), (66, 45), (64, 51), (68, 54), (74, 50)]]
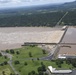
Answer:
[(48, 51), (43, 50), (37, 46), (24, 46), (19, 49), (10, 50), (10, 53), (13, 55), (13, 60), (26, 60), (32, 58), (41, 58), (48, 55)]

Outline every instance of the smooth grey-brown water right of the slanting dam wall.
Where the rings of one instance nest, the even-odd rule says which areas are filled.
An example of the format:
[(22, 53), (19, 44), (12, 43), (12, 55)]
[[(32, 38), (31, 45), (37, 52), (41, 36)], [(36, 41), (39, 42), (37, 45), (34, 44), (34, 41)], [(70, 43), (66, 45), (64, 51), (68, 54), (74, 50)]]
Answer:
[(68, 28), (62, 43), (76, 43), (76, 28)]

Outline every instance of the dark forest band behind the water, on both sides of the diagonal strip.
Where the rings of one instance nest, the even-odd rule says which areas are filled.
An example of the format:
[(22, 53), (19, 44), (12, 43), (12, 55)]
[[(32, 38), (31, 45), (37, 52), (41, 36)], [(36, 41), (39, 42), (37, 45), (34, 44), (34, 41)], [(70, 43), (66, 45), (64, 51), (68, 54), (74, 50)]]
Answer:
[[(53, 27), (65, 14), (65, 11), (39, 12), (29, 14), (0, 15), (0, 27), (49, 26)], [(60, 25), (76, 25), (76, 10), (68, 11)]]

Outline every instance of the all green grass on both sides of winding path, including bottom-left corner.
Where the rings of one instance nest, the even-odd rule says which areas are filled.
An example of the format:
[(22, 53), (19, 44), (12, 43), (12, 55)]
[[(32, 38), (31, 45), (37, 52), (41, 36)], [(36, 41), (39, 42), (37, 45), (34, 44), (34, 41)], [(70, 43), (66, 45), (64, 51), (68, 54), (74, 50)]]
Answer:
[[(13, 57), (12, 59), (12, 64), (15, 68), (15, 70), (20, 74), (20, 75), (28, 75), (29, 72), (35, 71), (35, 73), (38, 74), (38, 68), (42, 66), (41, 63), (43, 63), (46, 66), (46, 69), (48, 66), (53, 66), (55, 68), (63, 68), (63, 69), (69, 69), (72, 68), (73, 66), (70, 64), (67, 64), (65, 60), (61, 64), (61, 67), (59, 67), (56, 64), (56, 60), (51, 61), (51, 60), (40, 60), (38, 58), (45, 57), (48, 52), (46, 51), (46, 54), (43, 54), (43, 51), (41, 48), (38, 48), (37, 46), (24, 46), (22, 48), (18, 49), (12, 49), (14, 53), (11, 53), (11, 50), (7, 53), (10, 53)], [(4, 51), (5, 52), (5, 51)], [(29, 52), (31, 52), (32, 57), (30, 57)], [(2, 59), (2, 57), (1, 57)], [(0, 59), (0, 60), (1, 60)], [(4, 60), (3, 60), (4, 61)], [(66, 66), (64, 66), (66, 65)], [(7, 71), (6, 75), (10, 72), (12, 72), (11, 68), (9, 65), (4, 65), (0, 66), (0, 73), (2, 71)], [(13, 73), (13, 72), (12, 72)]]

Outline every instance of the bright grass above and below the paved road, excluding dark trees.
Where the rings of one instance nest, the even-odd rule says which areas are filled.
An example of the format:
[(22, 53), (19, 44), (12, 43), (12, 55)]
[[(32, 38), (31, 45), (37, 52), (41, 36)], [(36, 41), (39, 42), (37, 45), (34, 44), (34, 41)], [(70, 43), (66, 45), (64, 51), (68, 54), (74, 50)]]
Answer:
[[(16, 52), (19, 51), (20, 54), (16, 54)], [(55, 61), (50, 60), (36, 60), (36, 59), (30, 59), (29, 58), (39, 58), (43, 56), (47, 56), (48, 52), (46, 54), (43, 54), (42, 49), (38, 48), (37, 46), (31, 47), (31, 46), (24, 46), (22, 48), (14, 49), (15, 54), (13, 55), (13, 66), (15, 69), (20, 73), (20, 75), (28, 75), (29, 72), (35, 71), (38, 73), (37, 68), (41, 66), (41, 62), (48, 68), (48, 66), (53, 66), (54, 68), (59, 69), (58, 65), (56, 65)], [(29, 52), (32, 53), (32, 57), (29, 57)], [(2, 58), (1, 58), (2, 59)], [(14, 61), (18, 60), (20, 64), (14, 64)], [(24, 63), (27, 63), (25, 65)], [(8, 67), (8, 66), (7, 66)], [(72, 68), (72, 65), (66, 64), (65, 61), (63, 61), (63, 64), (61, 64), (61, 68), (63, 69), (69, 69)]]

